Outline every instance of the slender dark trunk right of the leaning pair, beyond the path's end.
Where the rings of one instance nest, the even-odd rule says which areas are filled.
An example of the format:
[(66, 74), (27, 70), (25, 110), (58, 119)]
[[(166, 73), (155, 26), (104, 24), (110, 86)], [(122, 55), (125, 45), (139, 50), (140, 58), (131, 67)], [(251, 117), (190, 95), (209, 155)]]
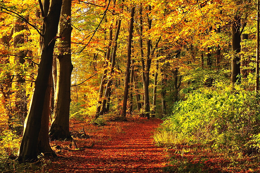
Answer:
[(134, 29), (134, 10), (135, 7), (131, 9), (131, 19), (129, 24), (129, 36), (128, 36), (128, 46), (127, 46), (127, 61), (126, 61), (126, 78), (125, 78), (125, 90), (123, 98), (123, 109), (122, 116), (126, 117), (127, 109), (127, 97), (128, 97), (128, 88), (129, 88), (129, 78), (130, 78), (130, 66), (131, 66), (131, 53), (132, 53), (132, 40), (133, 40), (133, 29)]

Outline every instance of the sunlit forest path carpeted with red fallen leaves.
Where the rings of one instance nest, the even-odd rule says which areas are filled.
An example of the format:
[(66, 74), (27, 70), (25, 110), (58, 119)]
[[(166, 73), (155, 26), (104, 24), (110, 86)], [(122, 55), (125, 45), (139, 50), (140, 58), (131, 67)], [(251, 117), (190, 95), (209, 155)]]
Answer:
[[(92, 138), (99, 139), (93, 148), (62, 152), (66, 158), (59, 161), (56, 169), (77, 173), (161, 172), (166, 151), (156, 146), (151, 137), (160, 123), (160, 119), (141, 118), (99, 127), (94, 135), (90, 133)], [(81, 145), (88, 144), (82, 141)]]

